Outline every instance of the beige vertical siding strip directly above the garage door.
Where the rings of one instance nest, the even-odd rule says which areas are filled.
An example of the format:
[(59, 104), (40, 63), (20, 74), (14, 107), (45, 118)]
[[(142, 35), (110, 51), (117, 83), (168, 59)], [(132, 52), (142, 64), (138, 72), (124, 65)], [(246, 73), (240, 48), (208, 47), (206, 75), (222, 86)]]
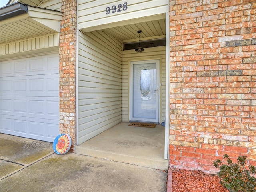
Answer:
[(2, 58), (8, 54), (16, 54), (43, 48), (59, 46), (59, 33), (38, 36), (36, 38), (24, 39), (16, 42), (0, 45)]

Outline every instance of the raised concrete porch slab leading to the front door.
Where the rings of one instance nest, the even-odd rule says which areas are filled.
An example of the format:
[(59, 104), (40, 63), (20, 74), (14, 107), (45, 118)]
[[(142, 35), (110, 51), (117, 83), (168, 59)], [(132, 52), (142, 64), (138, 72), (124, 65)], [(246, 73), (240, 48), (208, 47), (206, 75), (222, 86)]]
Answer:
[(164, 160), (164, 130), (128, 126), (121, 122), (98, 136), (75, 147), (77, 154), (88, 155), (127, 164), (168, 170)]

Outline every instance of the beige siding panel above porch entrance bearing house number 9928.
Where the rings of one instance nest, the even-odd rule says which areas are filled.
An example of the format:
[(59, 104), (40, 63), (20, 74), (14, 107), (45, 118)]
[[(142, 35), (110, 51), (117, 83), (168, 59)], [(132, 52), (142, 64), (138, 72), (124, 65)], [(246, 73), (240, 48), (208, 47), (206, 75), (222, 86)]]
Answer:
[[(124, 3), (127, 2), (127, 9), (123, 10)], [(120, 12), (106, 14), (106, 8), (122, 5)], [(149, 16), (163, 14), (169, 11), (168, 0), (104, 0), (85, 1), (78, 0), (78, 28), (87, 28), (87, 31), (99, 30), (103, 28), (123, 26), (142, 22), (138, 18), (147, 19)], [(152, 19), (150, 19), (152, 20)], [(104, 27), (102, 27), (104, 26)]]

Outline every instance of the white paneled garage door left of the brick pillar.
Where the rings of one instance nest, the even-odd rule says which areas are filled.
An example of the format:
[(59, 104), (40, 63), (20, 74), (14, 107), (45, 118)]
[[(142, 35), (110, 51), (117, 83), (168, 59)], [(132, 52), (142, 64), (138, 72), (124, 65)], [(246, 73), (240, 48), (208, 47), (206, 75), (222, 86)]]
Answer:
[(0, 132), (53, 142), (59, 134), (59, 57), (0, 62)]

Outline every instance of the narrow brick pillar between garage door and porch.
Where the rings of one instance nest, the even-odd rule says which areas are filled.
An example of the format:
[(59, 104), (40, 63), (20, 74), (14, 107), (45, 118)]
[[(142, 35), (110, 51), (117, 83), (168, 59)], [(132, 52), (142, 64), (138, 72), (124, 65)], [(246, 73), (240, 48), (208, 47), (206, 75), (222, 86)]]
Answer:
[(76, 144), (76, 0), (62, 0), (60, 29), (60, 132)]

